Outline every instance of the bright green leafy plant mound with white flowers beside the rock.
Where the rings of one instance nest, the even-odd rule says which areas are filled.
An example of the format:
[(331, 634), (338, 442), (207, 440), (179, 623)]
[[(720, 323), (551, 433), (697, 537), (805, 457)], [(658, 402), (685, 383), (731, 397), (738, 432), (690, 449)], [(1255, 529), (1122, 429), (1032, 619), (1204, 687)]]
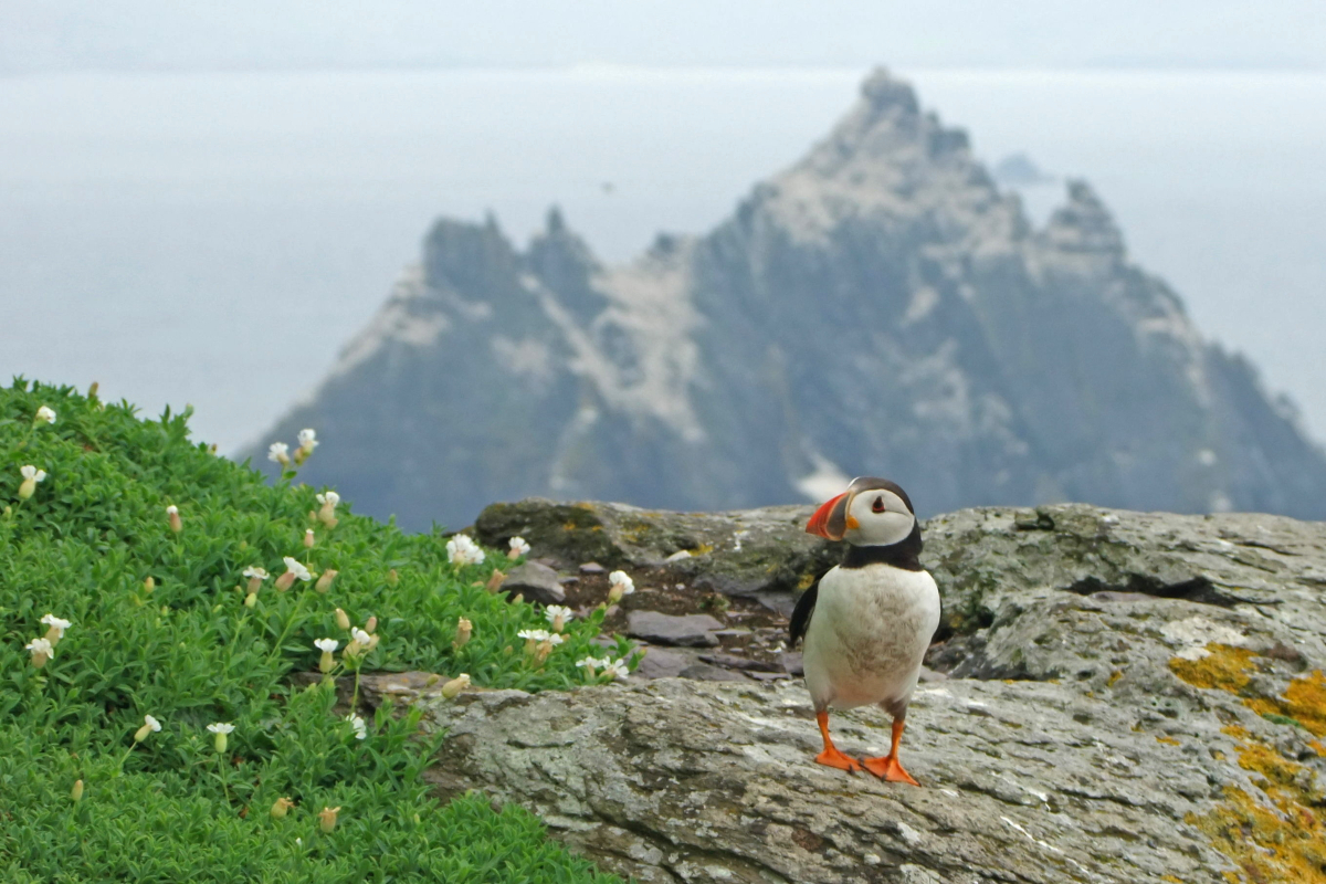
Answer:
[[(54, 423), (36, 417), (42, 406)], [(292, 473), (265, 485), (191, 444), (186, 420), (142, 421), (70, 388), (0, 388), (0, 879), (617, 880), (524, 811), (431, 799), (419, 774), (436, 737), (414, 712), (354, 722), (329, 681), (289, 685), (324, 661), (324, 637), (338, 641), (334, 673), (583, 684), (575, 661), (601, 651), (602, 614), (568, 624), (540, 661), (517, 632), (546, 628), (541, 610), (484, 588), (504, 554), (455, 566), (446, 538), (343, 504), (329, 527), (318, 489)], [(285, 557), (313, 579), (278, 591)], [(251, 567), (271, 579), (245, 603)], [(347, 657), (337, 608), (377, 636), (366, 653)], [(72, 622), (49, 659), (36, 641), (57, 637), (48, 614)], [(453, 649), (460, 618), (472, 637)], [(282, 798), (293, 807), (277, 818)]]

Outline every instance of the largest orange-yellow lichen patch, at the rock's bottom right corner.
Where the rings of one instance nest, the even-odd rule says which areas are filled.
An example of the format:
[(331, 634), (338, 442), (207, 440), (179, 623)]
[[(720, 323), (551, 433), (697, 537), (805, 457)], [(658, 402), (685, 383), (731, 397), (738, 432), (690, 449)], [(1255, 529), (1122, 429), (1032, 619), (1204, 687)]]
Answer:
[(1238, 740), (1238, 766), (1261, 778), (1269, 804), (1229, 786), (1208, 814), (1185, 818), (1228, 856), (1244, 880), (1326, 884), (1326, 819), (1322, 795), (1307, 769), (1237, 726), (1224, 733)]

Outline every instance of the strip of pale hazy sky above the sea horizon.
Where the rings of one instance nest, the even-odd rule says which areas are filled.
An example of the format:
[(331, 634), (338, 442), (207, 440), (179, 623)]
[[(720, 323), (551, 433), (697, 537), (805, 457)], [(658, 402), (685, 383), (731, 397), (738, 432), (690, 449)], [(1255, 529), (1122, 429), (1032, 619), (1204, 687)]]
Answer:
[(882, 61), (1326, 68), (1326, 3), (0, 0), (0, 72)]

